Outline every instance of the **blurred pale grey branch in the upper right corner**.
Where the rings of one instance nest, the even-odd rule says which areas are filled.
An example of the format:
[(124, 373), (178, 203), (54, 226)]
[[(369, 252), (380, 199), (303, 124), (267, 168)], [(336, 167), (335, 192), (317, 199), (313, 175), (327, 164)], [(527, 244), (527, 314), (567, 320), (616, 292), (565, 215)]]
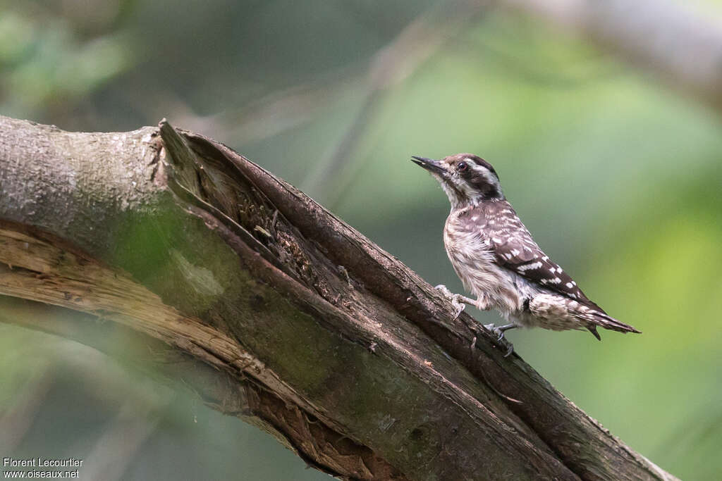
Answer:
[(664, 0), (502, 0), (547, 17), (722, 112), (722, 22)]

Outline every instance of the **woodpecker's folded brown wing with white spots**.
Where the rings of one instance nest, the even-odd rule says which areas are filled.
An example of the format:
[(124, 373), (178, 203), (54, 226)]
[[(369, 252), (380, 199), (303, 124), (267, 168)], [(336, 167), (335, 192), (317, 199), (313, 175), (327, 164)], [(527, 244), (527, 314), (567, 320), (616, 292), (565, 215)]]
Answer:
[[(474, 213), (470, 214), (473, 219)], [(584, 295), (569, 274), (544, 254), (508, 202), (486, 206), (483, 215), (477, 216), (477, 219), (481, 221), (477, 228), (486, 238), (498, 265), (604, 313)]]

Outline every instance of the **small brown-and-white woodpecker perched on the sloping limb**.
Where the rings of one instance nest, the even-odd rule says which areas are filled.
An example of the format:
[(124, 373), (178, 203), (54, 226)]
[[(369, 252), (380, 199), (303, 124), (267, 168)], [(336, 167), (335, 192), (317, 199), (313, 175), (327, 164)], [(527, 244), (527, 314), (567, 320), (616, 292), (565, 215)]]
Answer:
[[(444, 247), (466, 291), (476, 300), (451, 294), (461, 314), (465, 304), (497, 309), (508, 324), (486, 326), (504, 338), (515, 327), (588, 329), (601, 340), (598, 326), (640, 332), (610, 317), (594, 304), (559, 265), (536, 245), (506, 200), (494, 167), (474, 154), (442, 160), (412, 156), (412, 162), (438, 180), (451, 202), (444, 225)], [(510, 354), (513, 347), (508, 344)]]

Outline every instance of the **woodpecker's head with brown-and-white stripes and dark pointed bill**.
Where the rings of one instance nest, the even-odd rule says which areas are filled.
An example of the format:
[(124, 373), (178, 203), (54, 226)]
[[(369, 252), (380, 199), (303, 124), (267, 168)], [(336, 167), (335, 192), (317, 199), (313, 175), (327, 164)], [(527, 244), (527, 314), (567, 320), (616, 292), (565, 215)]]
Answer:
[(412, 156), (412, 162), (436, 177), (448, 195), (451, 208), (504, 199), (494, 167), (477, 155), (456, 154), (441, 160)]

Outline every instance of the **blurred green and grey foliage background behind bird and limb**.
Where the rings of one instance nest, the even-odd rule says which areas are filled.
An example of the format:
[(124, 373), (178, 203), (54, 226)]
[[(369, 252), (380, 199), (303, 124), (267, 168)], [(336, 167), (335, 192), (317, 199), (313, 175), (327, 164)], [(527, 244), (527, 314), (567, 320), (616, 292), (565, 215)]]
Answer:
[[(722, 20), (722, 1), (679, 3)], [(721, 479), (720, 115), (541, 19), (460, 8), (0, 1), (0, 113), (77, 131), (167, 117), (452, 291), (462, 288), (443, 251), (448, 201), (408, 159), (484, 156), (541, 247), (644, 332), (598, 343), (516, 331), (517, 352), (664, 469)], [(2, 456), (86, 459), (82, 479), (326, 478), (188, 392), (4, 323)]]

